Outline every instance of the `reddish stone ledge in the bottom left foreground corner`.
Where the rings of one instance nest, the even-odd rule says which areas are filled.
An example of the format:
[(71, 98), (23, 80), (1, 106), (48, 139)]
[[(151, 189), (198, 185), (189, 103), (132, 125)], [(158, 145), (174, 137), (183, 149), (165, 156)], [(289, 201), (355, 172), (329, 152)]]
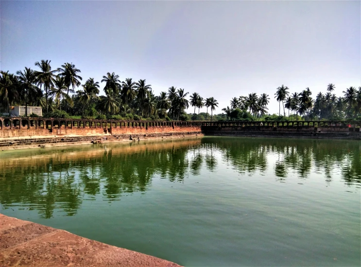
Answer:
[(1, 214), (0, 266), (179, 267), (170, 261)]

